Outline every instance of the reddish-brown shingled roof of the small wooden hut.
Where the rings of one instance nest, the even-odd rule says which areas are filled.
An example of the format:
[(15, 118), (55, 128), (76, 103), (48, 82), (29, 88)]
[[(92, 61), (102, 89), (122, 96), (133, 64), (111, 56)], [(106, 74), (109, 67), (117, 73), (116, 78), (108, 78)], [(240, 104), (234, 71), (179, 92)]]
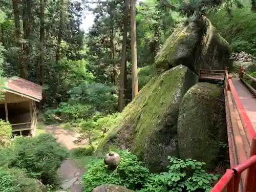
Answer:
[(41, 86), (17, 76), (12, 76), (7, 79), (5, 89), (9, 93), (27, 97), (37, 102), (42, 99)]

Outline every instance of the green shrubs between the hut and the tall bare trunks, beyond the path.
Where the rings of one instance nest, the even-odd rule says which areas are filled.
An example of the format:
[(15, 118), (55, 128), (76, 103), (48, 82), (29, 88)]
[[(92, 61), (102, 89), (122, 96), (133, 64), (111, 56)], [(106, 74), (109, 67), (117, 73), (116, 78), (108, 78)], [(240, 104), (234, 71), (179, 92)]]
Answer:
[(90, 119), (95, 112), (109, 114), (117, 109), (117, 88), (102, 83), (81, 83), (69, 92), (70, 99), (61, 102), (56, 109), (48, 109), (45, 120), (51, 121), (53, 114), (58, 115), (64, 122)]

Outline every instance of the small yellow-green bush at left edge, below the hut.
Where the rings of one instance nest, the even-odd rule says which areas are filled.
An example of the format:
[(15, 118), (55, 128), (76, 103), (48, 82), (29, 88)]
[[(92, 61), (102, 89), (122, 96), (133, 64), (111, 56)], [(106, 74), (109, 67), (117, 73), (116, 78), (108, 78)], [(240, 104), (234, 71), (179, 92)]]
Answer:
[(0, 146), (7, 146), (10, 144), (12, 137), (12, 126), (9, 122), (0, 119)]

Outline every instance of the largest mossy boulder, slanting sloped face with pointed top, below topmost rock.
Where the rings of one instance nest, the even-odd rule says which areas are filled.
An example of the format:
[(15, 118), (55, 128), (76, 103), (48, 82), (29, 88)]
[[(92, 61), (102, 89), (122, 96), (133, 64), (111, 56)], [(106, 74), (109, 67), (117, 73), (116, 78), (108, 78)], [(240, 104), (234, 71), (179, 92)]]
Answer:
[(178, 155), (177, 120), (182, 97), (196, 82), (197, 75), (185, 66), (154, 77), (119, 114), (98, 152), (131, 148), (151, 170), (165, 169), (167, 156)]

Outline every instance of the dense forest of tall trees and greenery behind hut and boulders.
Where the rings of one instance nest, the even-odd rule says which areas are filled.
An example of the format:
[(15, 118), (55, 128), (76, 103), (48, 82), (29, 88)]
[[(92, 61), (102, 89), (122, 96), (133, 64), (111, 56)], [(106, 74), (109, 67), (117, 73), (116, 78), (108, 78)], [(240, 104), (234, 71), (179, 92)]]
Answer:
[[(16, 75), (43, 86), (38, 107), (49, 122), (56, 116), (64, 122), (95, 122), (109, 114), (115, 116), (132, 100), (132, 62), (137, 61), (141, 89), (156, 72), (153, 64), (163, 42), (184, 22), (184, 13), (201, 4), (137, 2), (137, 32), (132, 33), (127, 0), (2, 0), (2, 81)], [(205, 14), (233, 52), (256, 55), (255, 2), (210, 4), (218, 7), (209, 6)], [(84, 10), (95, 16), (88, 32), (80, 27), (86, 20)], [(137, 39), (137, 55), (133, 53), (133, 37)]]

